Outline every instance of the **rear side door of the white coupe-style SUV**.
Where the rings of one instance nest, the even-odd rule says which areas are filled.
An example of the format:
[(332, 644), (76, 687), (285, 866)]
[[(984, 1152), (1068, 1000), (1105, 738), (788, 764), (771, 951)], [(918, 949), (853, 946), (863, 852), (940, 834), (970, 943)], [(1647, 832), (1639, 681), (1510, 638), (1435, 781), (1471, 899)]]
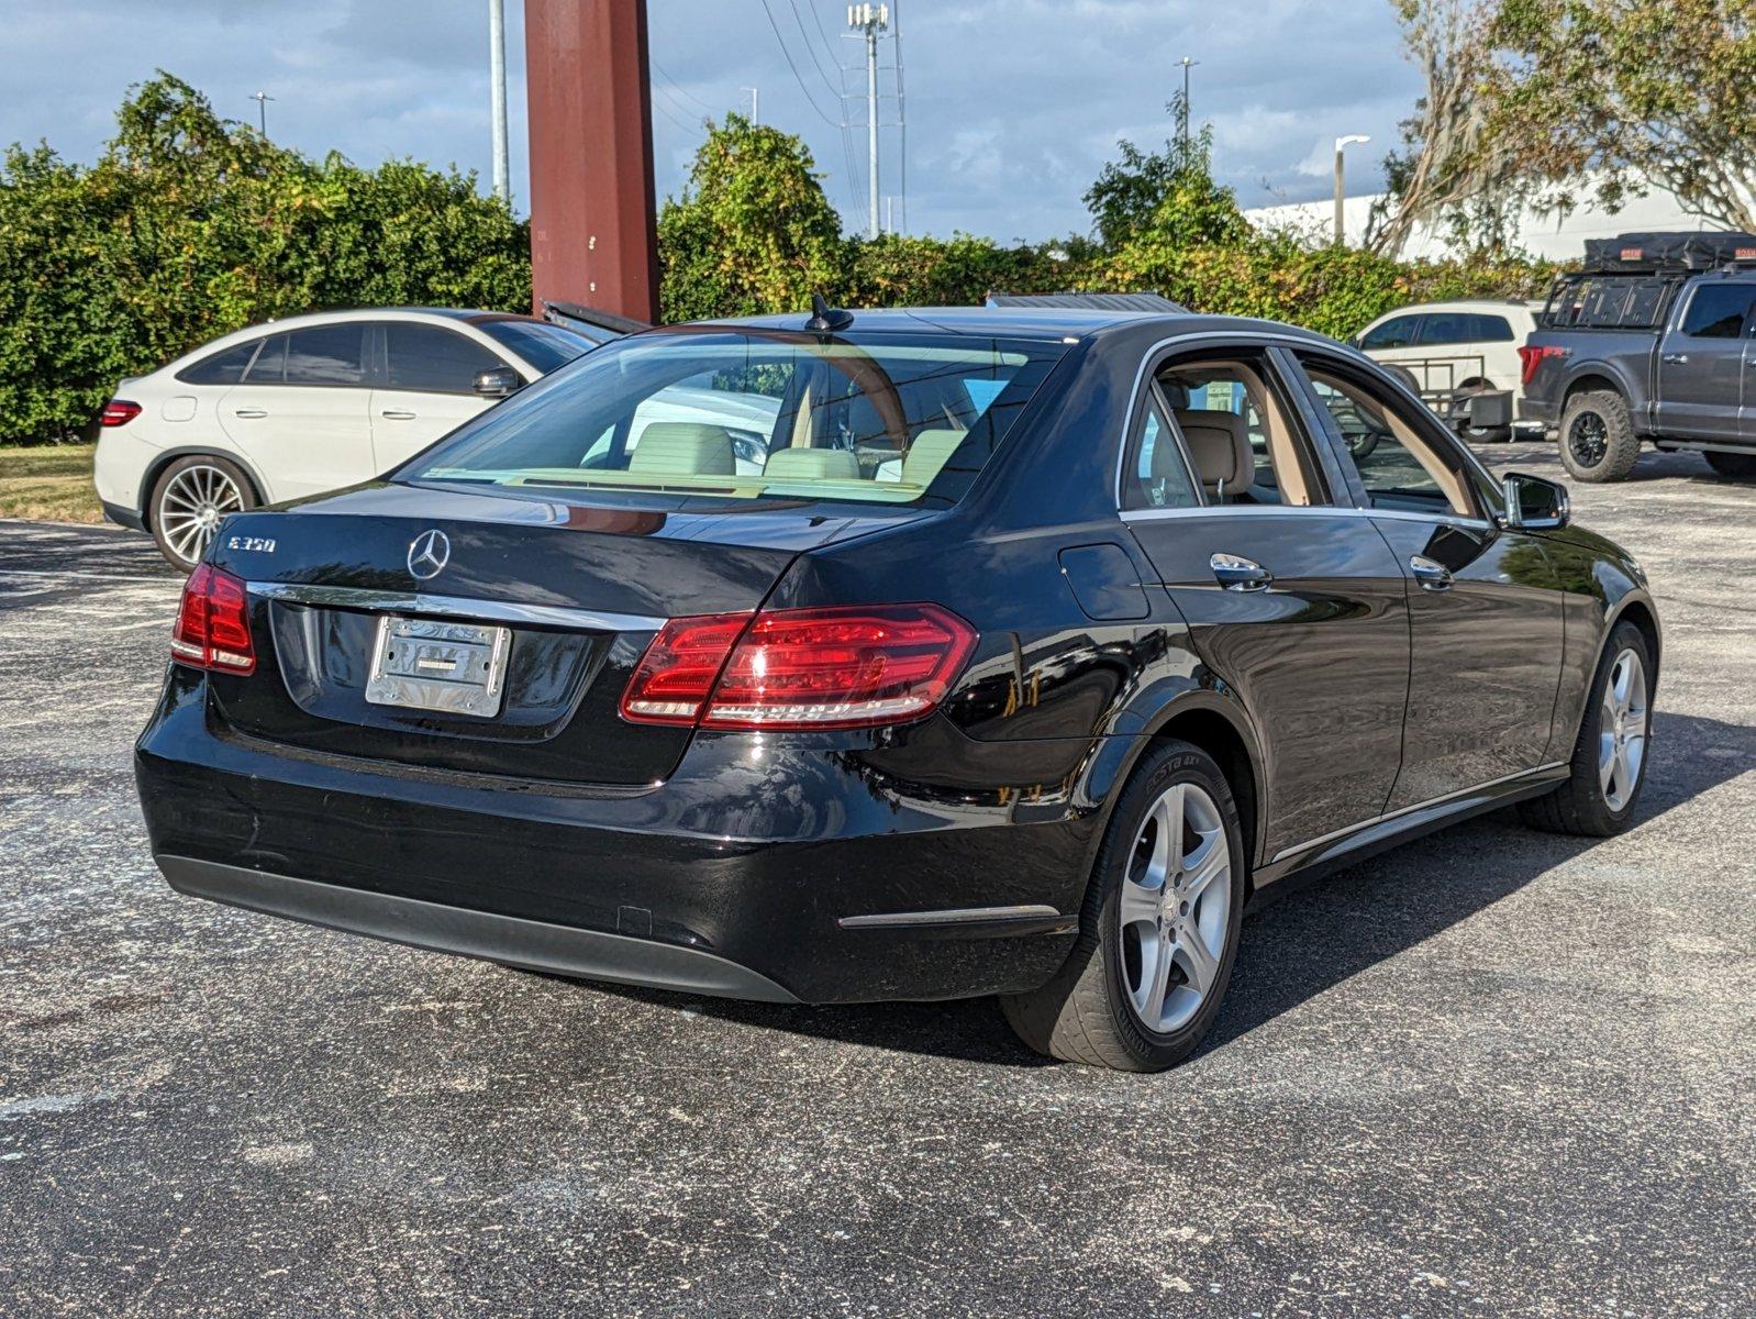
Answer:
[(376, 474), (365, 328), (335, 321), (269, 335), (220, 400), (220, 425), (263, 474), (272, 499)]

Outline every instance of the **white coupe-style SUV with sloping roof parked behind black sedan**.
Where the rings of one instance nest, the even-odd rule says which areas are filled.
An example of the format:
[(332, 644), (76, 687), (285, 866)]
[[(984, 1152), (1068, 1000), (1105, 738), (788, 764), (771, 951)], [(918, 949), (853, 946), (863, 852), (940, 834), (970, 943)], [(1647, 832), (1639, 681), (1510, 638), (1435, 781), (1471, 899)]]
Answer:
[(227, 513), (369, 481), (592, 350), (588, 334), (427, 307), (228, 334), (118, 386), (100, 418), (98, 499), (188, 569)]

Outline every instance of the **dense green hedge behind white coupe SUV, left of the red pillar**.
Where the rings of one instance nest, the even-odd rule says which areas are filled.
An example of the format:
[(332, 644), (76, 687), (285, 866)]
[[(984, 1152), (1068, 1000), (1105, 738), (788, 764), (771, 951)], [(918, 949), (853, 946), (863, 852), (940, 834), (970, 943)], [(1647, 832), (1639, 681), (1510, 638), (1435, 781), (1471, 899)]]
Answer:
[(314, 162), (160, 76), (95, 165), (0, 163), (0, 443), (65, 439), (218, 334), (404, 302), (529, 309), (527, 228), (474, 176)]

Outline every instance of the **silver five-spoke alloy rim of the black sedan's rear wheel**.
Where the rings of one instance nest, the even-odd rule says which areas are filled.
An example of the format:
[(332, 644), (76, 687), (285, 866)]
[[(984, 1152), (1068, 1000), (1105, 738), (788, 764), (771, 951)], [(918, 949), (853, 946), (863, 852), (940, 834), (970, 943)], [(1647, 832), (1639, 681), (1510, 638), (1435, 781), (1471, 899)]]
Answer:
[(1184, 1027), (1213, 991), (1231, 922), (1231, 840), (1196, 783), (1171, 785), (1147, 811), (1117, 919), (1134, 1015), (1159, 1034)]

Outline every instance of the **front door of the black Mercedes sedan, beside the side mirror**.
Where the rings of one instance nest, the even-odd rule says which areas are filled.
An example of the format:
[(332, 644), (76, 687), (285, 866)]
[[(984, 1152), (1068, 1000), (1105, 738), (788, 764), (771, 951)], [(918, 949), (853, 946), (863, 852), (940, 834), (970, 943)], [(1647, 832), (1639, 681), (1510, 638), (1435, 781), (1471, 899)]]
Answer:
[[(1561, 681), (1563, 594), (1542, 539), (1494, 518), (1494, 483), (1438, 425), (1345, 358), (1294, 355), (1370, 525), (1394, 551), (1412, 641), (1401, 773), (1387, 810), (1544, 762)], [(1366, 455), (1336, 416), (1380, 420)]]

